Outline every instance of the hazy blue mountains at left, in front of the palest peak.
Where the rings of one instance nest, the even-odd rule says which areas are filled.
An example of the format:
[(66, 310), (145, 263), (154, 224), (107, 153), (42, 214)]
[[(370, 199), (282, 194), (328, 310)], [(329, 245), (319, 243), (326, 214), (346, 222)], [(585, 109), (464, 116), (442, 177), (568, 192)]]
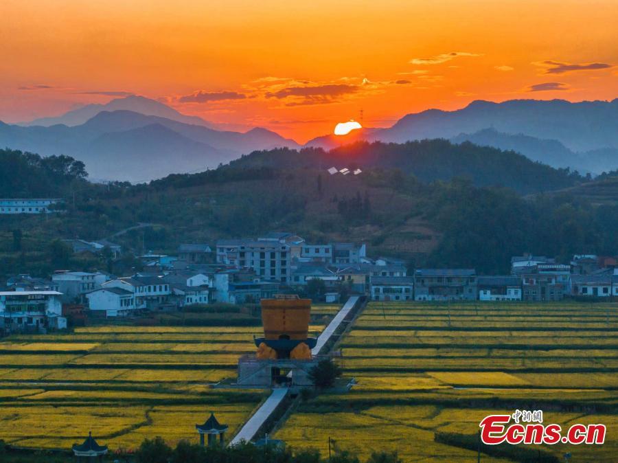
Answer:
[(77, 126), (0, 122), (0, 146), (84, 161), (94, 179), (146, 181), (170, 173), (216, 168), (255, 149), (299, 148), (264, 128), (216, 131), (134, 111), (100, 111)]

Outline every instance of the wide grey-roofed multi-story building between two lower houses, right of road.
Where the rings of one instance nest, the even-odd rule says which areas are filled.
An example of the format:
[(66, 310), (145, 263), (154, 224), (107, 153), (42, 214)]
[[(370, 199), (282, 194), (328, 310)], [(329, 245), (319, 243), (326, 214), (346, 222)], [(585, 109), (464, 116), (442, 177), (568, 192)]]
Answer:
[(474, 269), (420, 269), (414, 273), (417, 301), (476, 300)]

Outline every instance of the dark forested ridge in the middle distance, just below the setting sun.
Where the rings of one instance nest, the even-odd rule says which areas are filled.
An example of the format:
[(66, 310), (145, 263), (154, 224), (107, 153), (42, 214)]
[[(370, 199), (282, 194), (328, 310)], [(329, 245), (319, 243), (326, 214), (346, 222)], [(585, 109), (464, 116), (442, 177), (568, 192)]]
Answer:
[(477, 186), (505, 186), (520, 194), (567, 188), (582, 180), (576, 172), (551, 168), (514, 151), (469, 142), (452, 144), (444, 139), (404, 144), (358, 142), (330, 151), (321, 148), (255, 151), (232, 161), (230, 166), (401, 169), (424, 182), (464, 177)]

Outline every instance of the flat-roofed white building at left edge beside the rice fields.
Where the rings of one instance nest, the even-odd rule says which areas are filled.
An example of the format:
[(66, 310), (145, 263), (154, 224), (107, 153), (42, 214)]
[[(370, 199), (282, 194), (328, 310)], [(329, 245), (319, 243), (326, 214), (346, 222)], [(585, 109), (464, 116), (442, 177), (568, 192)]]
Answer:
[(7, 331), (67, 328), (58, 291), (0, 292), (0, 324)]

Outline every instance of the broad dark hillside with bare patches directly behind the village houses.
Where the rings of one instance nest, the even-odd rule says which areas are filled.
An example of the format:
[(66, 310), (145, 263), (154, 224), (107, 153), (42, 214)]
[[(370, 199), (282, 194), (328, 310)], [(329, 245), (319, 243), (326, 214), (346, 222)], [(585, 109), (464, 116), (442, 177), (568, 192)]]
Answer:
[[(247, 158), (260, 155), (264, 157), (255, 153)], [(83, 182), (70, 188), (68, 183), (65, 197), (71, 201), (61, 216), (0, 217), (5, 271), (105, 268), (106, 262), (58, 251), (54, 239), (111, 238), (137, 223), (156, 225), (113, 239), (137, 253), (173, 255), (182, 242), (214, 243), (271, 230), (291, 230), (309, 242), (366, 242), (374, 256), (397, 256), (416, 265), (475, 267), (481, 273), (506, 272), (510, 256), (526, 251), (563, 258), (618, 253), (618, 205), (595, 207), (577, 196), (576, 186), (572, 192), (523, 197), (461, 178), (426, 183), (398, 169), (331, 176), (325, 168), (241, 168), (240, 163), (135, 186)], [(21, 178), (36, 179), (32, 175), (23, 171)], [(23, 236), (19, 252), (14, 230)], [(121, 264), (135, 266), (133, 260)]]

